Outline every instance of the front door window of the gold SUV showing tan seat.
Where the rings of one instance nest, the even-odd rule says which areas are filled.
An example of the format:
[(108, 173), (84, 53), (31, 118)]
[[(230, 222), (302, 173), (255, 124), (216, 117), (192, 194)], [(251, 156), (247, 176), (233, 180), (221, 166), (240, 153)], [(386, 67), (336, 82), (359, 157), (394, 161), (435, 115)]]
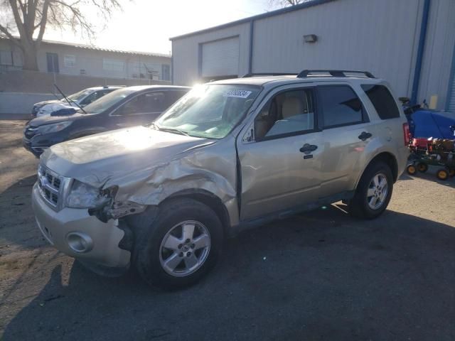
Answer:
[(313, 90), (281, 92), (255, 119), (255, 140), (314, 130)]

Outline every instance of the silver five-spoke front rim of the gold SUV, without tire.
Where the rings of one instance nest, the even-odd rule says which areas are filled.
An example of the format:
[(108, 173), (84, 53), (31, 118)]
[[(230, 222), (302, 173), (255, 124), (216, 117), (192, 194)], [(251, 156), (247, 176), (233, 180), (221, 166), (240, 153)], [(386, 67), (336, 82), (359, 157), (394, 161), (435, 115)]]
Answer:
[(172, 227), (159, 251), (164, 271), (172, 276), (188, 276), (203, 266), (210, 252), (210, 234), (200, 222), (186, 220)]

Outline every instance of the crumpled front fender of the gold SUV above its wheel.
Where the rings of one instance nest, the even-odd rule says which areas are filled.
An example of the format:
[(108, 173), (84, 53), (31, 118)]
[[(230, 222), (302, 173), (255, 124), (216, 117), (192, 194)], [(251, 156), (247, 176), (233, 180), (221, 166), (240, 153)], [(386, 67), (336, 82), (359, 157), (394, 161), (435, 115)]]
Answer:
[[(220, 198), (228, 209), (230, 221), (238, 221), (236, 193), (236, 155), (234, 146), (226, 142), (212, 144), (186, 153), (180, 158), (161, 163), (141, 174), (124, 175), (116, 202), (135, 202), (139, 205), (159, 205), (171, 195), (183, 190), (206, 190)], [(112, 178), (105, 184), (113, 185)]]

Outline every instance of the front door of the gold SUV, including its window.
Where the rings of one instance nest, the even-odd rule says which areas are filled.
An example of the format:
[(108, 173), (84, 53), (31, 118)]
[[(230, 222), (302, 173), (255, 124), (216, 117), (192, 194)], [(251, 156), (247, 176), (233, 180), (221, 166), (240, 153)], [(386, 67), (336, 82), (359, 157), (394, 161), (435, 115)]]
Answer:
[(237, 141), (240, 220), (292, 210), (314, 200), (321, 184), (323, 144), (316, 129), (314, 90), (284, 87), (269, 94), (252, 141)]

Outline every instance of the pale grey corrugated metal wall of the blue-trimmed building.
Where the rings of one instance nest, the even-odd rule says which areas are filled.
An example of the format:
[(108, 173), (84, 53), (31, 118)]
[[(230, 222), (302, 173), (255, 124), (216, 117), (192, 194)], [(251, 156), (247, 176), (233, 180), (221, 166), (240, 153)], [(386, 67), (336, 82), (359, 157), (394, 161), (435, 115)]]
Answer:
[[(307, 68), (369, 70), (397, 96), (411, 96), (424, 0), (338, 0), (254, 21), (252, 72)], [(250, 23), (173, 40), (174, 82), (198, 79), (198, 45), (240, 36), (239, 74), (248, 72)], [(303, 36), (316, 34), (316, 43)], [(431, 0), (418, 100), (444, 109), (455, 44), (455, 0)], [(189, 55), (189, 56), (188, 56)]]

